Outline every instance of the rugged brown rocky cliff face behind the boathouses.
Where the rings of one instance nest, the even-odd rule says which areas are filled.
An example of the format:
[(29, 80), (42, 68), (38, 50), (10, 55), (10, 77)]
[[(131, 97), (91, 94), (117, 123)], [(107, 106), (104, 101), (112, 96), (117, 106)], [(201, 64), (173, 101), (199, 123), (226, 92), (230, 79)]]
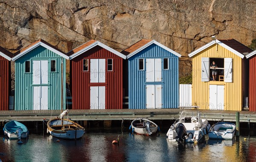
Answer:
[(15, 52), (43, 39), (64, 52), (90, 39), (122, 51), (154, 39), (188, 54), (217, 39), (256, 38), (255, 0), (0, 0), (0, 46)]

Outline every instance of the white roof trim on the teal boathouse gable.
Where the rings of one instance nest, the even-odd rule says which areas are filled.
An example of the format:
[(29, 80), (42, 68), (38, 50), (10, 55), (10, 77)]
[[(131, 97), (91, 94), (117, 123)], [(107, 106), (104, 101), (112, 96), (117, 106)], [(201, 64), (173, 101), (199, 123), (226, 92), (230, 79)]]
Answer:
[(35, 48), (38, 47), (39, 45), (43, 46), (44, 48), (49, 49), (50, 51), (54, 52), (55, 54), (60, 55), (61, 57), (64, 57), (64, 58), (67, 59), (67, 60), (69, 59), (69, 57), (68, 57), (66, 54), (64, 54), (64, 53), (62, 53), (62, 52), (60, 52), (60, 51), (58, 51), (58, 50), (56, 50), (56, 49), (50, 47), (49, 45), (47, 45), (47, 44), (45, 44), (45, 43), (43, 43), (43, 42), (38, 42), (38, 43), (36, 43), (35, 45), (32, 45), (31, 47), (29, 47), (28, 49), (26, 49), (25, 51), (21, 52), (20, 54), (16, 55), (15, 57), (12, 57), (12, 60), (13, 60), (13, 61), (17, 60), (18, 58), (22, 57), (23, 55), (25, 55), (25, 54), (28, 53), (29, 51), (32, 51), (33, 49), (35, 49)]

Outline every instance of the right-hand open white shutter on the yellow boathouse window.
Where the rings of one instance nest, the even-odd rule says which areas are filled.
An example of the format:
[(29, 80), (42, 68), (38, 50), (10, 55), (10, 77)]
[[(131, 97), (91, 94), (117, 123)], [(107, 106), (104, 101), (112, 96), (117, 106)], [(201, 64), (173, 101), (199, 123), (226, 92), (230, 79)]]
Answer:
[(233, 82), (233, 59), (224, 58), (224, 82)]

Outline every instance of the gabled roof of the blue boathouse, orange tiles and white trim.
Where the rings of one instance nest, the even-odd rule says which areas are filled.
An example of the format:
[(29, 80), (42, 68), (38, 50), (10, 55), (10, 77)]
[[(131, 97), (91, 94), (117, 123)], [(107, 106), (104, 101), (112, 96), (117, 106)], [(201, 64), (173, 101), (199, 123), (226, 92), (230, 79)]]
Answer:
[(139, 42), (135, 43), (134, 45), (131, 45), (129, 48), (122, 51), (123, 54), (127, 55), (127, 58), (130, 58), (134, 56), (134, 54), (137, 54), (138, 52), (142, 51), (143, 49), (147, 48), (151, 44), (156, 44), (160, 46), (161, 48), (165, 49), (166, 51), (171, 52), (172, 54), (175, 54), (177, 57), (181, 57), (181, 54), (178, 54), (177, 52), (173, 51), (172, 49), (162, 45), (161, 43), (158, 43), (155, 40), (140, 40)]

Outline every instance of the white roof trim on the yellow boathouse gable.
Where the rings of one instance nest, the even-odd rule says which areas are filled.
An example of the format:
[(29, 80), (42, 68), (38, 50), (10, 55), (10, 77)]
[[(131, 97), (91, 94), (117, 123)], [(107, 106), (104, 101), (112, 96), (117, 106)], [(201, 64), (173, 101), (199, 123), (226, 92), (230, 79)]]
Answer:
[[(222, 43), (221, 41), (216, 40), (216, 43), (217, 43), (218, 45), (221, 45), (222, 47), (226, 48), (227, 50), (233, 52), (234, 54), (238, 55), (239, 57), (244, 58), (244, 55), (243, 55), (243, 54), (241, 54), (240, 52), (234, 50), (234, 49), (231, 48), (230, 46), (225, 45), (225, 44)], [(207, 43), (206, 45), (204, 45), (204, 46), (198, 48), (197, 50), (195, 50), (195, 51), (193, 51), (193, 52), (191, 52), (191, 53), (189, 54), (189, 57), (192, 57), (192, 56), (194, 56), (195, 54), (198, 54), (199, 52), (203, 51), (204, 49), (206, 49), (206, 48), (208, 48), (208, 47), (210, 47), (210, 46), (212, 46), (212, 45), (214, 45), (214, 44), (215, 44), (215, 41), (212, 40), (210, 43)]]

